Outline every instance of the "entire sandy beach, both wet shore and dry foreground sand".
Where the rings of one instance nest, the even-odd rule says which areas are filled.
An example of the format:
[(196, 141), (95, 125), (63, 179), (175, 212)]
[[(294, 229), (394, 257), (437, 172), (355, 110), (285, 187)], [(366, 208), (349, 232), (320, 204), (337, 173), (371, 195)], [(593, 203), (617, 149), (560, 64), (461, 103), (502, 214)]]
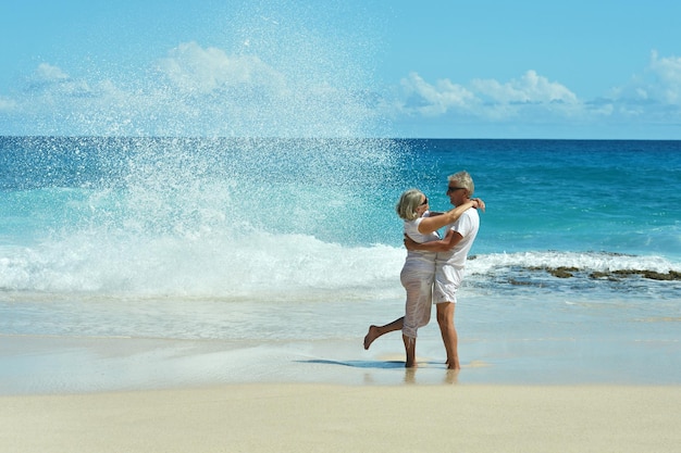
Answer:
[(642, 335), (603, 335), (583, 323), (491, 335), (471, 315), (458, 374), (445, 369), (433, 323), (420, 330), (416, 369), (404, 367), (398, 334), (364, 351), (364, 326), (308, 340), (4, 335), (0, 444), (16, 453), (677, 451), (672, 323), (655, 335), (648, 324)]

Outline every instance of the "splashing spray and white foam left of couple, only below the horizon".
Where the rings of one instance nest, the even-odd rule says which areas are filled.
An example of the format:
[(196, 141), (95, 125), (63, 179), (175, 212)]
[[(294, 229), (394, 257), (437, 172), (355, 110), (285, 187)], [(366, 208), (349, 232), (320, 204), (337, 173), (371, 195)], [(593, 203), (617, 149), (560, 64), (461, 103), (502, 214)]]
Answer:
[[(33, 237), (7, 249), (5, 289), (226, 299), (343, 289), (354, 297), (397, 275), (401, 251), (377, 246), (394, 223), (393, 213), (376, 215), (385, 197), (377, 193), (399, 185), (391, 140), (63, 143), (71, 148), (20, 143), (49, 149), (61, 171), (32, 189), (50, 203)], [(87, 155), (89, 176), (54, 187), (74, 173), (72, 154)]]

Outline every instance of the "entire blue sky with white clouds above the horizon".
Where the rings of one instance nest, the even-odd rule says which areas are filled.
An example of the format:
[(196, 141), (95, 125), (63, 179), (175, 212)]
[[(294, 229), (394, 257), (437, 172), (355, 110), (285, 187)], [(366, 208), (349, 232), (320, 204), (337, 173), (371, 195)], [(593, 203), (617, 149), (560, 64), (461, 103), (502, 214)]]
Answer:
[(681, 139), (681, 2), (10, 0), (0, 135)]

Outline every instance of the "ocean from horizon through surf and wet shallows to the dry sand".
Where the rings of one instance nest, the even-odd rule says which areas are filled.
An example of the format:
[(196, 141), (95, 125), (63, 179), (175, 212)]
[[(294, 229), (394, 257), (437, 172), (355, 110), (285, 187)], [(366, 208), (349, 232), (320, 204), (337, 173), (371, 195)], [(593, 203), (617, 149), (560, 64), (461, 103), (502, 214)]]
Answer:
[(0, 137), (0, 393), (407, 378), (395, 203), (486, 203), (456, 382), (681, 383), (681, 141)]

